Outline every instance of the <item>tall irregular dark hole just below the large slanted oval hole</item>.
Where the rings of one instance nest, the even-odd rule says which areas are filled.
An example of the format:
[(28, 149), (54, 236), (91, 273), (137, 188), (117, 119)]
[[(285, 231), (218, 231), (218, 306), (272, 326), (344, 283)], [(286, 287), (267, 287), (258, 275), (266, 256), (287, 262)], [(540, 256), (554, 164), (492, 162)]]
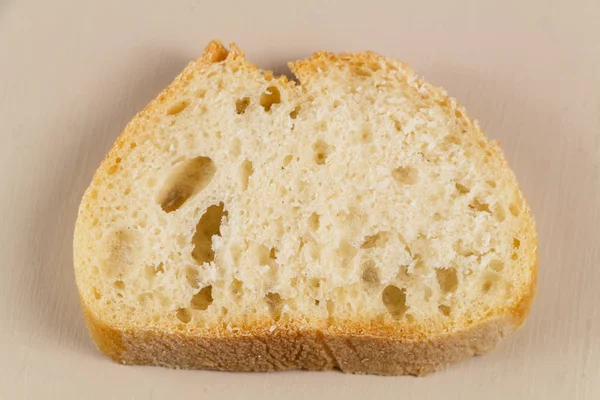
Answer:
[(213, 236), (221, 235), (221, 220), (227, 216), (224, 210), (224, 204), (212, 205), (208, 207), (204, 215), (196, 225), (196, 232), (192, 238), (192, 257), (202, 265), (214, 261), (215, 253), (212, 249)]

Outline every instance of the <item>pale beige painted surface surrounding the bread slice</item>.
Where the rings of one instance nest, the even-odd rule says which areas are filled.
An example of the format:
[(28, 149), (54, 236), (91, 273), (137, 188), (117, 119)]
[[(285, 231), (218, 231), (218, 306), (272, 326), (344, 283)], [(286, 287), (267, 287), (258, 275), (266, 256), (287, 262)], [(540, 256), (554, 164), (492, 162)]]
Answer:
[[(80, 197), (126, 122), (205, 44), (286, 72), (371, 49), (500, 140), (535, 214), (539, 293), (497, 350), (425, 378), (123, 367), (88, 339)], [(1, 399), (600, 399), (600, 2), (0, 0)]]

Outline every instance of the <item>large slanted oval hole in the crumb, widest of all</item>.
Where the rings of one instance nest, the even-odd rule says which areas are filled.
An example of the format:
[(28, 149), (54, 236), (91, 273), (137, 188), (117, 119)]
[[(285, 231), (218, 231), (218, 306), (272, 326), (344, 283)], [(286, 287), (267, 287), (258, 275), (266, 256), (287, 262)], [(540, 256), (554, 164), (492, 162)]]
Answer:
[(171, 173), (157, 202), (164, 212), (176, 211), (190, 197), (206, 188), (216, 171), (215, 164), (208, 157), (196, 157), (184, 162)]

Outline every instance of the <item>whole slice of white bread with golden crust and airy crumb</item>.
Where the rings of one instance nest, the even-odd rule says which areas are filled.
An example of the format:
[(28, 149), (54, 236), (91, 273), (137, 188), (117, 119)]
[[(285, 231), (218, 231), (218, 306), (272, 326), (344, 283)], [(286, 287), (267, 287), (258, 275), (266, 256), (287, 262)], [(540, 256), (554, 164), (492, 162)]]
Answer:
[(274, 77), (212, 42), (125, 128), (74, 259), (125, 364), (424, 374), (523, 322), (534, 221), (497, 142), (371, 52)]

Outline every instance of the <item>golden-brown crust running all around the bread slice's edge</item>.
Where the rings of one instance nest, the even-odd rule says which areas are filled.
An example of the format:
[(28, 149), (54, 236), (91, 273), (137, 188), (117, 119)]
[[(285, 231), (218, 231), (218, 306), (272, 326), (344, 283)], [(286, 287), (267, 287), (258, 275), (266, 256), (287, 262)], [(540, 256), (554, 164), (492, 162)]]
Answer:
[[(90, 186), (109, 179), (107, 170), (114, 160), (128, 151), (126, 143), (140, 136), (153, 116), (162, 113), (192, 76), (213, 62), (231, 62), (244, 55), (232, 44), (229, 50), (214, 41), (204, 54), (190, 63), (173, 83), (161, 92), (127, 125), (115, 145), (96, 172)], [(371, 52), (340, 54), (316, 53), (311, 59), (290, 63), (302, 86), (309, 86), (318, 71), (336, 62), (371, 63), (380, 60)], [(398, 68), (408, 68), (394, 61)], [(244, 62), (243, 68), (256, 69)], [(278, 78), (286, 80), (286, 78)], [(418, 79), (418, 78), (417, 78)], [(445, 92), (428, 85), (440, 102), (448, 101)], [(484, 137), (476, 122), (453, 100), (447, 104), (462, 116), (463, 123), (476, 135)], [(499, 168), (508, 168), (500, 146), (491, 151)], [(514, 183), (516, 185), (516, 182)], [(91, 194), (86, 192), (81, 207), (90, 207)], [(273, 371), (289, 369), (327, 370), (338, 368), (344, 372), (379, 375), (424, 375), (440, 367), (474, 354), (489, 351), (505, 335), (515, 331), (524, 321), (535, 296), (537, 276), (537, 234), (533, 217), (525, 203), (521, 220), (527, 243), (531, 249), (522, 260), (529, 268), (529, 285), (523, 287), (511, 308), (493, 309), (483, 320), (457, 321), (450, 330), (430, 331), (417, 325), (399, 328), (382, 321), (342, 321), (335, 324), (301, 324), (297, 321), (254, 320), (240, 321), (230, 326), (198, 328), (194, 326), (137, 326), (128, 321), (103, 318), (95, 312), (83, 295), (81, 304), (90, 334), (98, 349), (111, 359), (123, 364), (149, 364), (172, 368), (213, 369), (227, 371)], [(74, 260), (76, 266), (84, 257), (85, 226), (78, 219), (75, 230)], [(78, 285), (82, 285), (78, 280)], [(80, 286), (80, 293), (81, 286)], [(111, 321), (111, 322), (108, 322)]]

